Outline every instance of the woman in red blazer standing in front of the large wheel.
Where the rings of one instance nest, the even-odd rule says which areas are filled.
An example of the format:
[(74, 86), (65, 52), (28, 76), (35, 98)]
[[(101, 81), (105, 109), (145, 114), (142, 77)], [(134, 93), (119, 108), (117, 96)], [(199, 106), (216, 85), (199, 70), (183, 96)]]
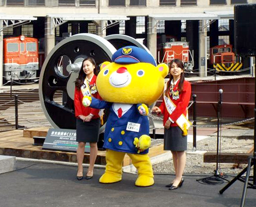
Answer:
[(83, 178), (83, 160), (84, 160), (84, 147), (86, 142), (90, 143), (90, 164), (86, 174), (86, 179), (93, 177), (94, 163), (97, 157), (97, 142), (99, 140), (100, 118), (99, 109), (84, 107), (82, 99), (84, 95), (100, 98), (96, 89), (96, 75), (94, 69), (96, 63), (93, 58), (84, 59), (79, 76), (75, 81), (75, 115), (76, 115), (76, 141), (78, 148), (76, 151), (78, 170), (77, 179)]

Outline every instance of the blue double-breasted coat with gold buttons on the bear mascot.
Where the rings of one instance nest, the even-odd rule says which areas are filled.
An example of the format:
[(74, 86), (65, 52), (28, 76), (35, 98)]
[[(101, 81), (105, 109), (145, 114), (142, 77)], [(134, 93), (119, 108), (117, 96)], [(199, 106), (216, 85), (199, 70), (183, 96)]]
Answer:
[[(133, 144), (134, 138), (140, 138), (141, 135), (149, 135), (148, 117), (140, 115), (137, 109), (140, 105), (141, 104), (133, 104), (131, 108), (119, 118), (113, 110), (113, 103), (100, 101), (92, 97), (90, 107), (96, 109), (110, 109), (104, 133), (104, 148), (118, 152), (137, 154), (138, 150)], [(139, 132), (126, 130), (128, 122), (140, 124)], [(148, 153), (148, 149), (140, 152), (140, 154), (146, 153)]]

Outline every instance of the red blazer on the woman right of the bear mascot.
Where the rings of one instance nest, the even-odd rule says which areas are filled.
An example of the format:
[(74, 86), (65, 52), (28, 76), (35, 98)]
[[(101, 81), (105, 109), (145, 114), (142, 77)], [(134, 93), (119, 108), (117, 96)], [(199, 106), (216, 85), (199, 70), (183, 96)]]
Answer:
[[(180, 81), (178, 81), (176, 83), (176, 85), (174, 86), (173, 90), (179, 90), (178, 89), (178, 84)], [(183, 90), (180, 94), (180, 98), (177, 100), (172, 99), (172, 95), (170, 95), (170, 98), (172, 100), (172, 102), (176, 105), (175, 110), (172, 112), (171, 115), (169, 115), (167, 109), (166, 109), (166, 105), (164, 103), (164, 101), (162, 102), (162, 104), (159, 106), (159, 108), (161, 109), (161, 112), (163, 114), (163, 126), (165, 125), (167, 119), (170, 117), (172, 119), (172, 121), (174, 121), (174, 123), (171, 123), (171, 126), (178, 126), (176, 124), (176, 120), (180, 117), (180, 115), (183, 113), (186, 116), (186, 108), (189, 105), (189, 100), (190, 100), (190, 96), (191, 96), (191, 85), (188, 81), (184, 80), (183, 82)]]

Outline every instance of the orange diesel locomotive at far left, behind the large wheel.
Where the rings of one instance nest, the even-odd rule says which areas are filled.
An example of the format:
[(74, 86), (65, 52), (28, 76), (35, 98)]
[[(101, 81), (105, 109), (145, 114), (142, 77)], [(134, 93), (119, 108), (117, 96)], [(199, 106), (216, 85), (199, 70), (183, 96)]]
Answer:
[(3, 39), (3, 77), (5, 80), (36, 78), (38, 70), (38, 40), (32, 37)]

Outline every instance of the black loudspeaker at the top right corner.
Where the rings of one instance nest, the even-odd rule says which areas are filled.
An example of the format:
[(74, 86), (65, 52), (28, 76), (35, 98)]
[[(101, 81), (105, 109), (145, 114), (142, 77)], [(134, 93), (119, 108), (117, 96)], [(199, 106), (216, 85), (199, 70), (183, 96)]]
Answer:
[(235, 53), (256, 55), (256, 4), (235, 6)]

